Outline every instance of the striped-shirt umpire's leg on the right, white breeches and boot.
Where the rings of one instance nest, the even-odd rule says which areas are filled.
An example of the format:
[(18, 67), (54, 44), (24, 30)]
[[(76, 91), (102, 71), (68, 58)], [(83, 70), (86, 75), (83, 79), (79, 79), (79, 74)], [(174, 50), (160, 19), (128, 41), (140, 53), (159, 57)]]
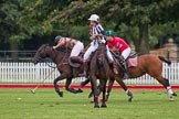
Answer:
[(107, 53), (107, 57), (108, 57), (108, 60), (109, 60), (109, 63), (113, 65), (113, 72), (114, 72), (115, 74), (118, 74), (118, 71), (117, 71), (115, 61), (114, 61), (114, 58), (113, 58), (112, 53), (109, 52), (108, 46), (106, 46), (106, 53)]

